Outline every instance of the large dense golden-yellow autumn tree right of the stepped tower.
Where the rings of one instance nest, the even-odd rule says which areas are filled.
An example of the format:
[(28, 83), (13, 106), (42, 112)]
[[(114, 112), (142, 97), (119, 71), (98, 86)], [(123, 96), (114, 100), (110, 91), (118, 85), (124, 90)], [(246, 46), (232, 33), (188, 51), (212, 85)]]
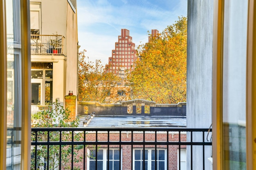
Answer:
[(163, 104), (186, 102), (186, 39), (187, 18), (179, 17), (138, 46), (140, 60), (128, 77), (136, 98)]

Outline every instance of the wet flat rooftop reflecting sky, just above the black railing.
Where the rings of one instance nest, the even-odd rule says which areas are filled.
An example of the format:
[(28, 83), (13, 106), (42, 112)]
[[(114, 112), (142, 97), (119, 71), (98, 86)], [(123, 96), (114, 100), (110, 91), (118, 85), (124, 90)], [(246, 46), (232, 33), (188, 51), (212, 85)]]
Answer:
[[(79, 127), (83, 127), (86, 115), (79, 115)], [(186, 128), (186, 117), (169, 116), (94, 116), (86, 126), (93, 127), (173, 127)]]

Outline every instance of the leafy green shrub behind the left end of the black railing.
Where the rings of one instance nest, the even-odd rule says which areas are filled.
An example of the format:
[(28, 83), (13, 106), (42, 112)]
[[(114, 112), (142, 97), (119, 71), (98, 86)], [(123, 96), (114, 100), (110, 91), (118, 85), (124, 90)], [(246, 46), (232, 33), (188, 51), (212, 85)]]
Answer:
[[(42, 110), (36, 113), (36, 116), (40, 121), (35, 125), (36, 127), (45, 127), (45, 128), (52, 128), (52, 127), (78, 127), (79, 119), (76, 118), (74, 121), (70, 121), (69, 119), (70, 111), (65, 109), (56, 99), (54, 102), (53, 107), (49, 106), (49, 109)], [(60, 132), (53, 131), (53, 132), (37, 132), (37, 141), (47, 141), (48, 140), (48, 133), (49, 133), (49, 141), (71, 141), (72, 140), (72, 132), (61, 132), (61, 139), (60, 139)], [(74, 141), (79, 141), (83, 137), (83, 132), (76, 132), (74, 133)], [(36, 134), (31, 133), (31, 141), (36, 140)], [(35, 156), (35, 148), (31, 150), (31, 170), (34, 170), (35, 167), (35, 159), (37, 159), (37, 167), (43, 168), (45, 162), (47, 161), (47, 148), (48, 146), (41, 145), (37, 147), (37, 155)], [(74, 146), (74, 152), (72, 152), (71, 145), (50, 145), (49, 146), (49, 169), (54, 170), (59, 168), (59, 161), (60, 161), (60, 147), (61, 147), (61, 166), (67, 170), (71, 169), (68, 166), (70, 163), (72, 154), (74, 155), (74, 163), (77, 163), (82, 160), (81, 155), (79, 156), (79, 150), (83, 149), (83, 145)], [(37, 168), (37, 169), (40, 169)], [(75, 167), (74, 169), (79, 170), (79, 167)]]

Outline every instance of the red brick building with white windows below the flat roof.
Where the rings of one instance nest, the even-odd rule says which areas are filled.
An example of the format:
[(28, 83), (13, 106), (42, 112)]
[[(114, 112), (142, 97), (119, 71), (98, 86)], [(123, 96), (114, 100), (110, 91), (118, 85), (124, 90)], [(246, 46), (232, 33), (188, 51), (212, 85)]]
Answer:
[[(133, 136), (133, 137), (132, 137)], [(115, 142), (119, 141), (119, 133), (113, 132), (109, 133), (109, 141)], [(86, 134), (86, 141), (96, 141), (95, 132), (88, 132)], [(97, 133), (97, 141), (108, 141), (108, 132)], [(167, 132), (157, 132), (156, 139), (155, 133), (145, 132), (145, 137), (143, 137), (143, 132), (122, 132), (121, 141), (135, 141), (135, 142), (154, 142), (154, 141), (167, 141)], [(179, 141), (178, 132), (169, 132), (168, 141), (177, 142)], [(186, 133), (180, 134), (180, 141), (186, 141)], [(95, 170), (96, 163), (96, 152), (94, 146), (86, 146), (87, 158), (85, 159), (85, 169)], [(107, 170), (108, 164), (108, 152), (109, 152), (109, 169), (110, 170), (120, 170), (119, 161), (121, 160), (121, 170), (143, 170), (143, 150), (145, 151), (145, 169), (155, 170), (155, 155), (157, 155), (157, 170), (178, 170), (179, 167), (179, 146), (178, 145), (110, 145), (109, 151), (108, 146), (101, 145), (97, 146), (97, 169)], [(157, 153), (155, 153), (155, 148)], [(121, 153), (119, 152), (121, 149)], [(76, 157), (83, 155), (80, 152)], [(180, 169), (184, 170), (186, 167), (186, 146), (180, 147)], [(120, 159), (121, 156), (121, 159)], [(83, 169), (83, 161), (79, 163), (74, 163), (75, 167), (80, 167)]]

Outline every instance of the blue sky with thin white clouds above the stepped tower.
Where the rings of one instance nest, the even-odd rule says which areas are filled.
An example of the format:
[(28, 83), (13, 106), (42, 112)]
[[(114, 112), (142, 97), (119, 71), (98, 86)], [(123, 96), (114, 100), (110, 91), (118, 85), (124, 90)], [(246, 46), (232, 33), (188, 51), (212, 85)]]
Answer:
[(162, 32), (187, 16), (187, 0), (77, 0), (80, 51), (90, 61), (108, 63), (121, 29), (130, 30), (136, 46), (148, 41), (148, 32)]

